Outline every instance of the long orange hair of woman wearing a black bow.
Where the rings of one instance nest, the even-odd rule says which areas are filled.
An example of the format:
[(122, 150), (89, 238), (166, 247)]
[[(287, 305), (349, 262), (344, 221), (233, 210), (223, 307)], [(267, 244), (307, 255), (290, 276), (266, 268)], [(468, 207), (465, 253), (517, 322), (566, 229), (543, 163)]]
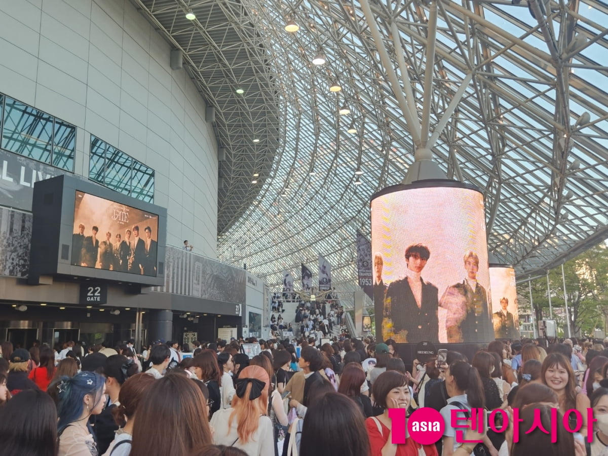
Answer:
[[(247, 381), (246, 387), (242, 393), (239, 392), (238, 382), (240, 380)], [(261, 388), (260, 395), (255, 399), (250, 399), (252, 389), (257, 381), (263, 382), (264, 387)], [(232, 427), (232, 422), (237, 420), (238, 439), (242, 443), (247, 443), (251, 436), (258, 429), (260, 424), (260, 415), (266, 415), (268, 409), (268, 390), (266, 386), (270, 383), (268, 373), (260, 366), (247, 366), (238, 375), (237, 393), (232, 399), (232, 413), (228, 418), (228, 431)], [(226, 433), (227, 434), (227, 433)]]

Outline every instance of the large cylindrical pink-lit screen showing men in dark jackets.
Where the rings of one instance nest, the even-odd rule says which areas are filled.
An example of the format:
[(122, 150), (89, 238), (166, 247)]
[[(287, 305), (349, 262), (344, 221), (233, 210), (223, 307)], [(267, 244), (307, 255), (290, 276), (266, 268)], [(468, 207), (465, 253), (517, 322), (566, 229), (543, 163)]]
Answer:
[(395, 185), (371, 200), (380, 339), (494, 339), (483, 195), (463, 187)]

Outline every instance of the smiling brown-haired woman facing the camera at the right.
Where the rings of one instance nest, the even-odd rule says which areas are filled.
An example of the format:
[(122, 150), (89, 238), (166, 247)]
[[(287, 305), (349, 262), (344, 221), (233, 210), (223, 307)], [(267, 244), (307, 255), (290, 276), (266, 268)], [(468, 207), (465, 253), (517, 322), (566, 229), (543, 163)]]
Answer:
[[(579, 432), (587, 433), (587, 409), (590, 401), (586, 394), (576, 393), (576, 378), (570, 361), (561, 353), (551, 353), (542, 362), (542, 382), (550, 387), (559, 401), (559, 413), (565, 415), (568, 410), (576, 409), (582, 415), (582, 427)], [(570, 413), (570, 420), (576, 420), (576, 415)], [(574, 429), (576, 424), (570, 425)]]

